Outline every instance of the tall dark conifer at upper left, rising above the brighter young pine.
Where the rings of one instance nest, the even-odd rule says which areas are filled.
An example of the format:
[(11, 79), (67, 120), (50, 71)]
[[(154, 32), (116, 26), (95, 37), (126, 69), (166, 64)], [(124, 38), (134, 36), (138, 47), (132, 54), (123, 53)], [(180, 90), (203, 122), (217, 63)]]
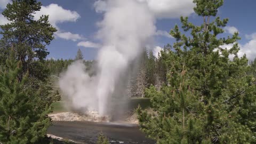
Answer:
[[(39, 20), (34, 19), (33, 13), (39, 11), (41, 5), (36, 0), (13, 0), (2, 13), (11, 23), (0, 26), (3, 36), (0, 40), (0, 60), (4, 62), (12, 48), (17, 53), (17, 60), (22, 63), (22, 75), (29, 70), (29, 75), (38, 76), (38, 79), (42, 75), (34, 73), (35, 65), (42, 68), (42, 62), (49, 54), (45, 45), (50, 44), (53, 33), (57, 31), (49, 23), (49, 16), (42, 15)], [(35, 62), (34, 59), (39, 61)]]

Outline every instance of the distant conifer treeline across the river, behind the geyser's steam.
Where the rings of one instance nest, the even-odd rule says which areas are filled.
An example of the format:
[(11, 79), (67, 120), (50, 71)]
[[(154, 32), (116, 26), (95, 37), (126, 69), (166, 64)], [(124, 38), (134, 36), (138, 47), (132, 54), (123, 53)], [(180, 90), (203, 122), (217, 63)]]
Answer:
[[(167, 64), (169, 61), (166, 57), (166, 53), (170, 51), (170, 47), (169, 44), (164, 46), (164, 49), (162, 52), (158, 53), (157, 57), (154, 55), (153, 51), (143, 51), (139, 59), (137, 59), (135, 74), (130, 75), (128, 80), (129, 85), (127, 85), (127, 91), (129, 97), (145, 97), (145, 90), (151, 85), (155, 86), (157, 91), (161, 90), (162, 86), (168, 85)], [(80, 50), (77, 51), (76, 59), (47, 59), (45, 60), (45, 66), (49, 68), (51, 75), (59, 76), (76, 60), (82, 60), (86, 67), (86, 71), (90, 71), (91, 75), (97, 74), (97, 71), (94, 68), (97, 61), (83, 60), (83, 54)], [(249, 73), (256, 77), (256, 59), (249, 62), (249, 65), (251, 66)]]

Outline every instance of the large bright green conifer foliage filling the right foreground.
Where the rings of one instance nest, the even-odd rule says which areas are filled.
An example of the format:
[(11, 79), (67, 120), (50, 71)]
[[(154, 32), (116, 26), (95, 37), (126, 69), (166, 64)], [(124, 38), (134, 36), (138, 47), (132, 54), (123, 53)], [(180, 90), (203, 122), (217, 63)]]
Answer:
[(155, 113), (138, 109), (141, 130), (157, 143), (256, 143), (255, 78), (245, 55), (237, 56), (238, 33), (219, 38), (228, 19), (210, 21), (223, 1), (194, 2), (204, 23), (181, 17), (185, 34), (171, 30), (177, 42), (161, 53), (167, 86), (146, 91)]

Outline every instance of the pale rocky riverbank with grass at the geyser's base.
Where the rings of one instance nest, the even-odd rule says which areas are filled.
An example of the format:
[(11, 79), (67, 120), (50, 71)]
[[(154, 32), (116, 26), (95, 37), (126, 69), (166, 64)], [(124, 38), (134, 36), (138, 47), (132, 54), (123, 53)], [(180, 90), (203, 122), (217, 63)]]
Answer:
[(114, 118), (111, 116), (99, 116), (96, 111), (87, 111), (84, 113), (77, 113), (67, 108), (67, 103), (63, 101), (57, 101), (52, 104), (53, 112), (49, 115), (52, 121), (83, 121), (83, 122), (117, 122), (117, 123), (128, 123), (128, 124), (139, 124), (135, 109), (138, 105), (141, 108), (148, 109), (150, 101), (147, 98), (131, 98), (129, 103), (129, 109), (125, 112), (122, 118)]

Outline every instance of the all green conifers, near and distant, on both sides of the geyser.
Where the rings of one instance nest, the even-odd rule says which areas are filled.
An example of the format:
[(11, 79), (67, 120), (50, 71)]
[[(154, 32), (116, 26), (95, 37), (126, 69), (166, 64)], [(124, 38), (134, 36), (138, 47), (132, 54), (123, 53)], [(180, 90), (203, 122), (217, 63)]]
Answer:
[[(145, 49), (129, 79), (127, 97), (149, 98), (155, 112), (137, 109), (141, 131), (163, 144), (256, 143), (256, 60), (238, 57), (238, 33), (219, 36), (228, 23), (215, 17), (223, 0), (194, 3), (202, 24), (181, 17), (181, 27), (170, 31), (176, 42), (157, 57)], [(54, 79), (83, 60), (81, 51), (74, 60), (46, 60), (57, 29), (47, 15), (33, 19), (41, 6), (13, 0), (3, 11), (12, 22), (0, 26), (0, 143), (50, 143), (47, 115), (60, 100)], [(97, 73), (97, 60), (83, 61), (91, 75)]]

